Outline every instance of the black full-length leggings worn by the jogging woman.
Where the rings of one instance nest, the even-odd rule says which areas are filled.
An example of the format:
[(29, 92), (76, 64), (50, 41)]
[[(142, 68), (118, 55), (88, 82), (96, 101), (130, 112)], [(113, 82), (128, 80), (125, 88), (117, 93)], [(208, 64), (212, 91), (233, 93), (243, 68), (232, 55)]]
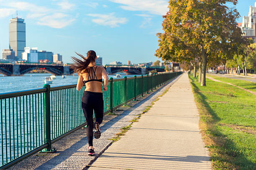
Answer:
[(96, 117), (96, 122), (99, 124), (103, 120), (103, 95), (102, 92), (84, 91), (82, 97), (82, 109), (87, 122), (87, 140), (89, 146), (92, 146), (93, 138), (93, 110)]

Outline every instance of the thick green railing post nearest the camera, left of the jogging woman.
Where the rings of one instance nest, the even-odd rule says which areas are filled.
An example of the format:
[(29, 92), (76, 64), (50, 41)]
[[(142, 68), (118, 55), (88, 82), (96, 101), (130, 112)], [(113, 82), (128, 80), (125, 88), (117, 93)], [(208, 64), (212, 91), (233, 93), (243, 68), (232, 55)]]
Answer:
[(41, 150), (42, 153), (54, 153), (56, 149), (51, 148), (51, 112), (50, 112), (50, 85), (44, 84), (46, 92), (44, 92), (44, 142), (48, 143), (48, 147)]

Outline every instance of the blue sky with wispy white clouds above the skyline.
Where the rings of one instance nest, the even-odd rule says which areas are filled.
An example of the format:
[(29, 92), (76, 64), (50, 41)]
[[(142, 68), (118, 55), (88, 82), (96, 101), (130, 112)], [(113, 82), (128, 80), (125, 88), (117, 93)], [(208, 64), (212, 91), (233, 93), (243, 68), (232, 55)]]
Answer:
[[(238, 23), (254, 2), (238, 0)], [(0, 58), (17, 10), (25, 19), (27, 47), (59, 53), (64, 63), (74, 52), (95, 50), (103, 64), (127, 64), (158, 60), (156, 33), (162, 32), (168, 0), (0, 0)]]

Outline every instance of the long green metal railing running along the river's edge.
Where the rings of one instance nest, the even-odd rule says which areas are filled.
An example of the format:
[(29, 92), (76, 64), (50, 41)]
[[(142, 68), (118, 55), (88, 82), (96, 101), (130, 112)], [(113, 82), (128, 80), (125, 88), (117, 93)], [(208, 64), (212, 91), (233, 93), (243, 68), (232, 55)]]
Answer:
[[(172, 80), (182, 72), (110, 78), (103, 91), (104, 113), (113, 112), (136, 97)], [(104, 83), (102, 81), (102, 83)], [(76, 84), (0, 93), (0, 169), (38, 151), (54, 152), (51, 144), (82, 128), (82, 90)]]

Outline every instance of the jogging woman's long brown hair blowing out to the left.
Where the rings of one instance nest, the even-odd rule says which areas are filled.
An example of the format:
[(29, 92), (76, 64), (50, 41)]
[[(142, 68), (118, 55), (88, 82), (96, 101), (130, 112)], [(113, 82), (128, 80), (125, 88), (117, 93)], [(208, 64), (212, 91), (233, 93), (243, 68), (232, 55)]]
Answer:
[(87, 57), (85, 58), (82, 54), (79, 54), (77, 52), (75, 52), (77, 55), (79, 55), (80, 57), (82, 57), (82, 59), (84, 60), (80, 60), (76, 57), (71, 57), (74, 64), (72, 64), (70, 67), (74, 69), (74, 72), (77, 73), (84, 73), (86, 72), (86, 68), (88, 67), (88, 65), (91, 62), (95, 62), (96, 60), (96, 52), (93, 50), (90, 50), (87, 52)]

